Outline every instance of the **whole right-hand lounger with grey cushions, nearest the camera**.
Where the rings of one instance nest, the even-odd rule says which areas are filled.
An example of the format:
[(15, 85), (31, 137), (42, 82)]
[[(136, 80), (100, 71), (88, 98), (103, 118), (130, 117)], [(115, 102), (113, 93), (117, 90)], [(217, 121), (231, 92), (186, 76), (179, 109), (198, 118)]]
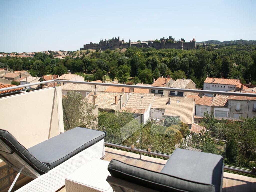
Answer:
[(112, 159), (107, 181), (123, 191), (221, 191), (223, 157), (176, 148), (160, 173)]

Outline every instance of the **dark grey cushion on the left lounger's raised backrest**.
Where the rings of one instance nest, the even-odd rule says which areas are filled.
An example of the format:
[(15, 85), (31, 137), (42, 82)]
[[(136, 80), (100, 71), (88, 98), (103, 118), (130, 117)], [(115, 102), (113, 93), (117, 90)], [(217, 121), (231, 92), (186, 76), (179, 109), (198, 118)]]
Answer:
[(44, 174), (49, 171), (50, 167), (48, 165), (38, 161), (38, 159), (31, 155), (27, 149), (21, 145), (8, 131), (0, 129), (0, 139), (13, 150), (11, 153), (17, 153), (39, 174)]

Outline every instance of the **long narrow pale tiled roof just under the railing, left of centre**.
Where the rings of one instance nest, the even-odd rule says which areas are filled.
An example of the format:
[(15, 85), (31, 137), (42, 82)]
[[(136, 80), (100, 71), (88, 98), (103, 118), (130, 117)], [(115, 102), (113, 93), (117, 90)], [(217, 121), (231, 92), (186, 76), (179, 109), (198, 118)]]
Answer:
[[(96, 86), (96, 91), (105, 91), (108, 86)], [(94, 85), (79, 84), (79, 83), (66, 83), (61, 87), (62, 90), (67, 91), (94, 91)]]

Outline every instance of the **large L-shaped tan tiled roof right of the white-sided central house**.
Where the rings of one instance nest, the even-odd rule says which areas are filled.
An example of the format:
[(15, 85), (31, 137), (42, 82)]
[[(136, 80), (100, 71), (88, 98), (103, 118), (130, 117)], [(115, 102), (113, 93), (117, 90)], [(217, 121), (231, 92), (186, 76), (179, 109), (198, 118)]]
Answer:
[(170, 97), (170, 104), (168, 105), (167, 102), (168, 97), (156, 97), (151, 108), (165, 109), (164, 115), (179, 116), (180, 120), (186, 124), (192, 124), (194, 122), (194, 98)]

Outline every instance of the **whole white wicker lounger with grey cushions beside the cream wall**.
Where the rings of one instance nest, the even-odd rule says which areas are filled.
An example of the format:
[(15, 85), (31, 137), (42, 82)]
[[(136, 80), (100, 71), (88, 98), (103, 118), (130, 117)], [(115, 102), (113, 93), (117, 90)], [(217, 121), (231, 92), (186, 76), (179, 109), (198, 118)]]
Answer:
[(17, 191), (56, 191), (65, 185), (67, 175), (92, 158), (104, 156), (105, 136), (102, 131), (76, 127), (26, 149), (1, 129), (0, 159), (35, 178)]

